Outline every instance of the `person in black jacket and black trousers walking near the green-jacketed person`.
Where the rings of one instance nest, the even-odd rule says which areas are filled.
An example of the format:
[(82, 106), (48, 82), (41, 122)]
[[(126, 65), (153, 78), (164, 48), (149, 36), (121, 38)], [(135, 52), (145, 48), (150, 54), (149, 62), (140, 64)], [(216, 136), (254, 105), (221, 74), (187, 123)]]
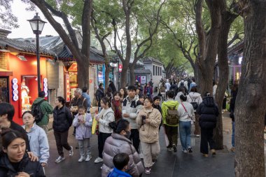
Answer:
[(67, 142), (69, 136), (69, 127), (72, 125), (72, 115), (65, 105), (63, 97), (57, 97), (55, 100), (55, 109), (53, 111), (54, 121), (52, 122), (52, 129), (54, 129), (55, 143), (59, 157), (55, 163), (64, 161), (63, 148), (69, 150), (69, 156), (73, 156), (73, 147), (69, 146)]

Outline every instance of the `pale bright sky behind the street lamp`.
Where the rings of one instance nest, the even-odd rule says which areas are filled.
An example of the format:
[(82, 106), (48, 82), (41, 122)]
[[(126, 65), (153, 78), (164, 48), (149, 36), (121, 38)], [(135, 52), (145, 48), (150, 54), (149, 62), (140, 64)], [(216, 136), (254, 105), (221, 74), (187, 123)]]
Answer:
[[(31, 26), (27, 20), (30, 20), (34, 17), (35, 13), (38, 12), (38, 15), (41, 17), (41, 20), (47, 22), (43, 27), (43, 32), (40, 36), (52, 35), (58, 36), (55, 29), (49, 24), (48, 20), (44, 17), (41, 10), (36, 8), (36, 11), (27, 11), (27, 4), (22, 3), (20, 0), (14, 0), (12, 3), (13, 14), (18, 17), (18, 24), (20, 27), (17, 29), (8, 29), (12, 31), (11, 34), (8, 34), (8, 38), (34, 38), (35, 34), (33, 33)], [(58, 20), (58, 19), (57, 19)]]

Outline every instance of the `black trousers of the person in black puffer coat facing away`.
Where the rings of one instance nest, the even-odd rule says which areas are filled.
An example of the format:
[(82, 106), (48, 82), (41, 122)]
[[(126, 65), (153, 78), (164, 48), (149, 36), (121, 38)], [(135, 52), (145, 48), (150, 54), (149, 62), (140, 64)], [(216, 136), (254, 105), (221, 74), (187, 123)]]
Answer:
[(208, 143), (211, 149), (215, 148), (215, 143), (214, 143), (214, 129), (201, 129), (202, 131), (202, 136), (200, 139), (200, 153), (203, 154), (208, 154), (209, 149), (208, 149)]

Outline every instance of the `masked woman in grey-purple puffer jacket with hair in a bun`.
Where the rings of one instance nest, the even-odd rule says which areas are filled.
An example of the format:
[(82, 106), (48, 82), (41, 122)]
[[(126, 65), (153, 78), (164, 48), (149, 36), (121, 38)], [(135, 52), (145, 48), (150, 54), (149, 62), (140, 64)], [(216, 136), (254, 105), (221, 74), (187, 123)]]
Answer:
[(125, 172), (133, 177), (139, 177), (144, 173), (144, 166), (141, 162), (137, 150), (130, 141), (130, 122), (121, 119), (118, 122), (111, 122), (109, 126), (113, 129), (113, 134), (106, 139), (104, 144), (102, 166), (102, 177), (106, 177), (115, 168), (113, 157), (118, 153), (126, 153), (130, 156), (130, 162), (125, 168)]

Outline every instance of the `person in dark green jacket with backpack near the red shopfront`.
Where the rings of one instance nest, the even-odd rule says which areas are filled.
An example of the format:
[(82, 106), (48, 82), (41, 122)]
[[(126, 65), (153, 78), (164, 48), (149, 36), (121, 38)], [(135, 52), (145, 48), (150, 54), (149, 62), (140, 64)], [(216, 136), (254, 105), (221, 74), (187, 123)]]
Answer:
[[(40, 122), (36, 122), (36, 125), (44, 129), (45, 133), (48, 134), (48, 122), (49, 122), (49, 114), (52, 114), (53, 108), (50, 106), (48, 101), (43, 101), (45, 97), (45, 92), (41, 91), (38, 93), (38, 98), (34, 100), (32, 107), (36, 104), (39, 104), (41, 101), (41, 112), (43, 113), (43, 118), (41, 118)], [(31, 110), (32, 111), (32, 110)]]

